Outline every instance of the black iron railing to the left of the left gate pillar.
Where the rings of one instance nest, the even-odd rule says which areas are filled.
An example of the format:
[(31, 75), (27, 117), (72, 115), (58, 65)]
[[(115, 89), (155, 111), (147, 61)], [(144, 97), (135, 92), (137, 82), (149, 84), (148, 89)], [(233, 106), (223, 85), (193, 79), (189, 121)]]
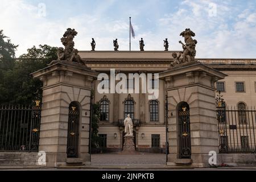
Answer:
[(0, 105), (0, 151), (38, 151), (41, 107)]

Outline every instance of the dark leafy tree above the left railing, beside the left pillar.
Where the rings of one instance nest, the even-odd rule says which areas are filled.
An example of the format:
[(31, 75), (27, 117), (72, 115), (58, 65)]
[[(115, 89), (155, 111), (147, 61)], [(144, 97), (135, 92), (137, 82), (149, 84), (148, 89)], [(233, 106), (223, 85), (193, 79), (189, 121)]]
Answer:
[(32, 78), (30, 73), (43, 69), (49, 62), (56, 60), (56, 52), (57, 47), (33, 46), (14, 61), (12, 69), (3, 70), (0, 80), (0, 103), (32, 104), (34, 100), (41, 100), (42, 82)]

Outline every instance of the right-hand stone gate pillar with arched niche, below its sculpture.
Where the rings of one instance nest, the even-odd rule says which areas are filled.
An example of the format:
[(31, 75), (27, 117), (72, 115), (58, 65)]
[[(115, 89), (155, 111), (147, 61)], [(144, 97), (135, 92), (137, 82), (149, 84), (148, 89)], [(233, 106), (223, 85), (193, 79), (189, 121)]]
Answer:
[(214, 82), (226, 75), (204, 64), (187, 64), (159, 73), (168, 96), (169, 165), (209, 166), (218, 153)]

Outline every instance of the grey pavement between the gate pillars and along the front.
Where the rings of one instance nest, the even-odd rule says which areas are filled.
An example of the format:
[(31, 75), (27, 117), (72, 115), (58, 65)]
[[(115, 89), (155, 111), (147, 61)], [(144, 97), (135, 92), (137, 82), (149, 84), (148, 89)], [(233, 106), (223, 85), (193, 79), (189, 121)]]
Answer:
[(117, 171), (117, 170), (146, 170), (146, 171), (167, 171), (167, 170), (195, 170), (195, 171), (241, 171), (256, 170), (256, 166), (236, 166), (218, 168), (192, 168), (183, 166), (166, 166), (165, 154), (141, 153), (139, 155), (93, 154), (91, 165), (84, 166), (60, 166), (49, 168), (44, 166), (0, 166), (0, 170), (86, 170), (86, 171)]

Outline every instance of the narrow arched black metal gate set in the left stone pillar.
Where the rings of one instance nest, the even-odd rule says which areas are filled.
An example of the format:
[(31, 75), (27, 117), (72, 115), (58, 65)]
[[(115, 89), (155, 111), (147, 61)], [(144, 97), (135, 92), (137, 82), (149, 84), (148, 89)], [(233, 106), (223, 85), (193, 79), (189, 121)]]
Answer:
[(68, 111), (68, 158), (78, 158), (78, 142), (79, 142), (79, 105), (71, 102)]

